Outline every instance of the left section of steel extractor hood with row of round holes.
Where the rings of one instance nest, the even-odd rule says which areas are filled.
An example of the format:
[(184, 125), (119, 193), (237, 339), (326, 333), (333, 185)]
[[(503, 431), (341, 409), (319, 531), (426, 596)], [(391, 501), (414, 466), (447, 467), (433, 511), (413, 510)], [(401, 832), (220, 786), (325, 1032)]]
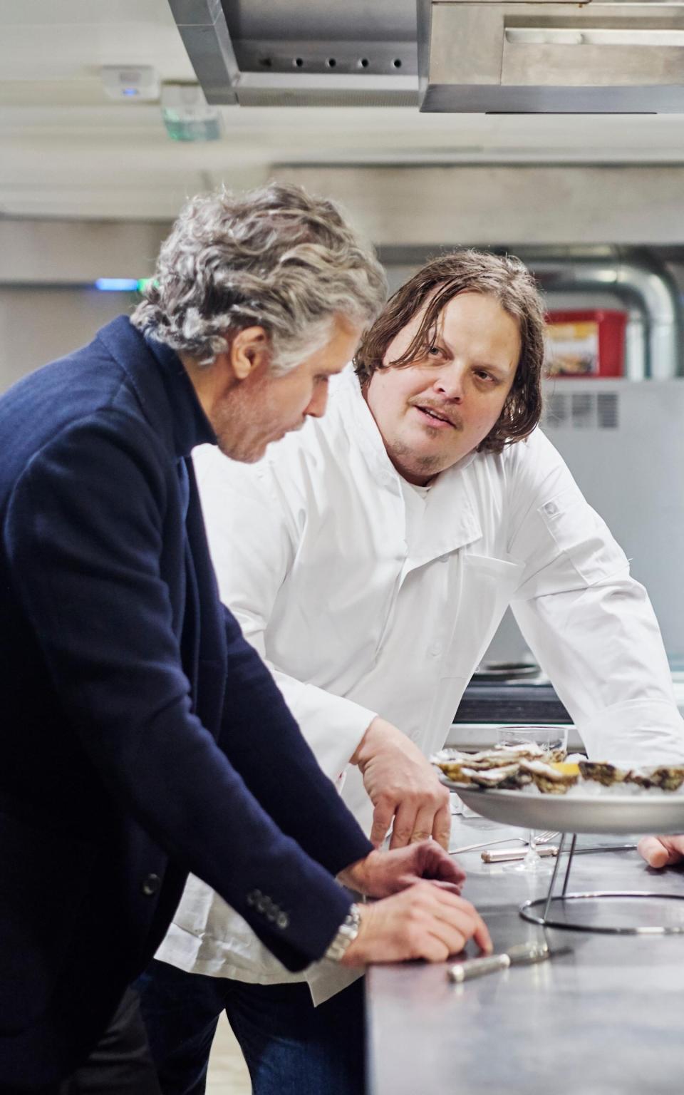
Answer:
[(207, 102), (417, 106), (416, 0), (169, 0)]

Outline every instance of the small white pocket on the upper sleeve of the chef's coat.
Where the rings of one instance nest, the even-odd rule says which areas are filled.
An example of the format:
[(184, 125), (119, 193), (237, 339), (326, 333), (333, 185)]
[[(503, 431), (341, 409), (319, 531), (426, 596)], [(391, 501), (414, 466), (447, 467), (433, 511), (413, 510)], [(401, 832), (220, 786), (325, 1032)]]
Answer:
[(540, 506), (537, 514), (558, 551), (565, 553), (588, 586), (612, 577), (627, 565), (605, 521), (577, 487), (566, 487)]

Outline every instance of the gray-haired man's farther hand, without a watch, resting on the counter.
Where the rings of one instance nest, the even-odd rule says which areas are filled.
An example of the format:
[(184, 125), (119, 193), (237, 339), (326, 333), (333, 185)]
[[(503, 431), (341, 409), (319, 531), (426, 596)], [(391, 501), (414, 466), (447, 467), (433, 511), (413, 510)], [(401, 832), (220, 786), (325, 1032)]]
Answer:
[(389, 897), (414, 886), (421, 879), (431, 880), (443, 889), (461, 892), (465, 872), (433, 840), (410, 844), (394, 852), (370, 852), (337, 876), (344, 886), (369, 897)]

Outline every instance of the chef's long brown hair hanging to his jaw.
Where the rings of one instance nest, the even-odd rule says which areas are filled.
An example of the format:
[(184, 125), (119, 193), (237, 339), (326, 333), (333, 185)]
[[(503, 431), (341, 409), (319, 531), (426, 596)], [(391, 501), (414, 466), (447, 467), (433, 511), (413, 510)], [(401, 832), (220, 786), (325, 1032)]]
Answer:
[[(501, 452), (505, 445), (528, 437), (542, 414), (544, 360), (544, 304), (530, 270), (513, 255), (482, 251), (454, 251), (433, 258), (390, 298), (353, 359), (361, 385), (376, 369), (398, 369), (421, 360), (437, 334), (442, 309), (460, 292), (494, 297), (518, 323), (520, 358), (512, 388), (499, 418), (478, 452)], [(410, 346), (395, 361), (385, 364), (393, 338), (425, 307)]]

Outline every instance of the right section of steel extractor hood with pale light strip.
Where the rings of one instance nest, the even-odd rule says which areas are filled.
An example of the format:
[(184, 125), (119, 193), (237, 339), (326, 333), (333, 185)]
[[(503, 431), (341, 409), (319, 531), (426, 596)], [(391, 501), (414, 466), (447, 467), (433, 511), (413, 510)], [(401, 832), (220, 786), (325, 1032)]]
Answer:
[(684, 3), (418, 0), (421, 110), (684, 113)]

